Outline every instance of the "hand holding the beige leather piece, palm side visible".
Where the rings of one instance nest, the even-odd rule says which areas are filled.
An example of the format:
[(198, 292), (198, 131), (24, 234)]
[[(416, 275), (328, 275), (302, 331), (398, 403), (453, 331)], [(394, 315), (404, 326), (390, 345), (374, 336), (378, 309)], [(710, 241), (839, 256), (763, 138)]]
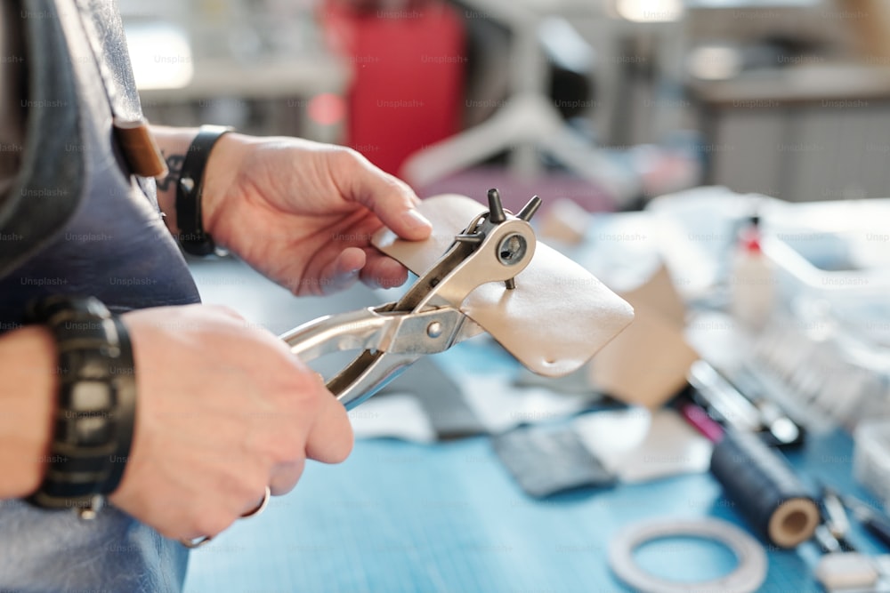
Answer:
[(412, 240), (431, 227), (403, 181), (350, 148), (230, 132), (207, 162), (203, 220), (214, 241), (295, 294), (324, 294), (357, 279), (405, 282), (378, 252), (382, 227)]

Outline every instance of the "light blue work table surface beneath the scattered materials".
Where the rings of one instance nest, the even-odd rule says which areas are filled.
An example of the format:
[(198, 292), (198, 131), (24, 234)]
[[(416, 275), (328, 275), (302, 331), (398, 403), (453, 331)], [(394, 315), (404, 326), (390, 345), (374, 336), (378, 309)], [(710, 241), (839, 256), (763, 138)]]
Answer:
[[(197, 262), (193, 269), (206, 301), (227, 302), (276, 333), (376, 298), (359, 290), (294, 299), (257, 284), (255, 273), (235, 260)], [(506, 376), (513, 365), (484, 341), (435, 360), (464, 389), (472, 389), (473, 377)], [(851, 477), (852, 450), (851, 439), (835, 431), (811, 438), (789, 460), (811, 485), (818, 479), (862, 495)], [(343, 464), (310, 462), (292, 493), (194, 551), (186, 591), (627, 591), (609, 570), (609, 543), (623, 527), (655, 517), (721, 517), (751, 533), (709, 474), (538, 501), (515, 484), (490, 437), (433, 444), (361, 438)], [(886, 552), (858, 526), (852, 537), (863, 552)], [(768, 549), (761, 590), (821, 590), (812, 577), (819, 557), (812, 543)], [(729, 549), (691, 538), (647, 544), (636, 558), (652, 573), (682, 581), (713, 579), (735, 565)]]

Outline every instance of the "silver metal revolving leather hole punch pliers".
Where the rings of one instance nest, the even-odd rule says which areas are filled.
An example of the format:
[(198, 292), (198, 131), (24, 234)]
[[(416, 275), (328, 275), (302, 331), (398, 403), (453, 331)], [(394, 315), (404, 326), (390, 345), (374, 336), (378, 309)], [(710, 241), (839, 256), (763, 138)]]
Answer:
[(471, 220), (399, 301), (320, 317), (281, 336), (305, 361), (361, 350), (328, 381), (328, 389), (346, 409), (374, 395), (418, 358), (482, 333), (460, 310), (473, 289), (489, 282), (504, 282), (506, 290), (515, 287), (515, 277), (535, 252), (529, 220), (541, 200), (532, 197), (514, 216), (504, 210), (497, 189), (491, 189), (488, 198), (489, 212)]

